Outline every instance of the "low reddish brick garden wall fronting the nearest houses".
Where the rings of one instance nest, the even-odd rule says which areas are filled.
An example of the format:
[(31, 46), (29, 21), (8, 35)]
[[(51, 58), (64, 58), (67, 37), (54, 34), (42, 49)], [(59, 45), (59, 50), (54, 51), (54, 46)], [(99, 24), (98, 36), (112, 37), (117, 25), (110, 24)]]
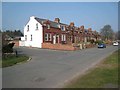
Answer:
[(55, 50), (79, 50), (78, 47), (73, 47), (72, 45), (62, 45), (62, 44), (51, 44), (51, 43), (42, 43), (42, 48), (55, 49)]

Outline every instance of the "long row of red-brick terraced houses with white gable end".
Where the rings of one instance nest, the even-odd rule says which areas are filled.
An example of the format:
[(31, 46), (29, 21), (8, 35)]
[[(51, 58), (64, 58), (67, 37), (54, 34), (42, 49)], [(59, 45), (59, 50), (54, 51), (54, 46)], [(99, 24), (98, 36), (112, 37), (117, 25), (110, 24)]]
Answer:
[(100, 34), (92, 28), (76, 27), (74, 22), (67, 25), (61, 23), (59, 18), (51, 21), (32, 16), (24, 27), (21, 46), (75, 50), (80, 43), (100, 38)]

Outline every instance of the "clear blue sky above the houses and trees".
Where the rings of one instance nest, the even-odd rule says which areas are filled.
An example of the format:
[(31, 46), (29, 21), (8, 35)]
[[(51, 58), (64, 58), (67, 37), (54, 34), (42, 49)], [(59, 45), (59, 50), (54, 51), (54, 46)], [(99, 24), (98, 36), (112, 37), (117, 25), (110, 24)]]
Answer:
[(3, 29), (20, 29), (28, 22), (30, 16), (54, 20), (60, 18), (62, 23), (74, 22), (76, 26), (84, 25), (100, 31), (104, 25), (111, 25), (118, 30), (117, 2), (3, 2)]

